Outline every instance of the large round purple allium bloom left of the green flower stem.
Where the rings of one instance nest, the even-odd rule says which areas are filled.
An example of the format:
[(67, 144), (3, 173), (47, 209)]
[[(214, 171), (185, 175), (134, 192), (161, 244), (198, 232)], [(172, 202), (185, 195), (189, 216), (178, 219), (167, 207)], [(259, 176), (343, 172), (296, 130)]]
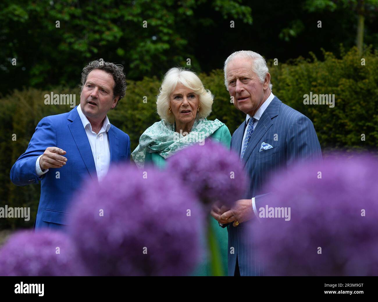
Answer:
[(201, 205), (164, 171), (113, 166), (70, 212), (69, 232), (93, 275), (184, 275), (201, 253)]

